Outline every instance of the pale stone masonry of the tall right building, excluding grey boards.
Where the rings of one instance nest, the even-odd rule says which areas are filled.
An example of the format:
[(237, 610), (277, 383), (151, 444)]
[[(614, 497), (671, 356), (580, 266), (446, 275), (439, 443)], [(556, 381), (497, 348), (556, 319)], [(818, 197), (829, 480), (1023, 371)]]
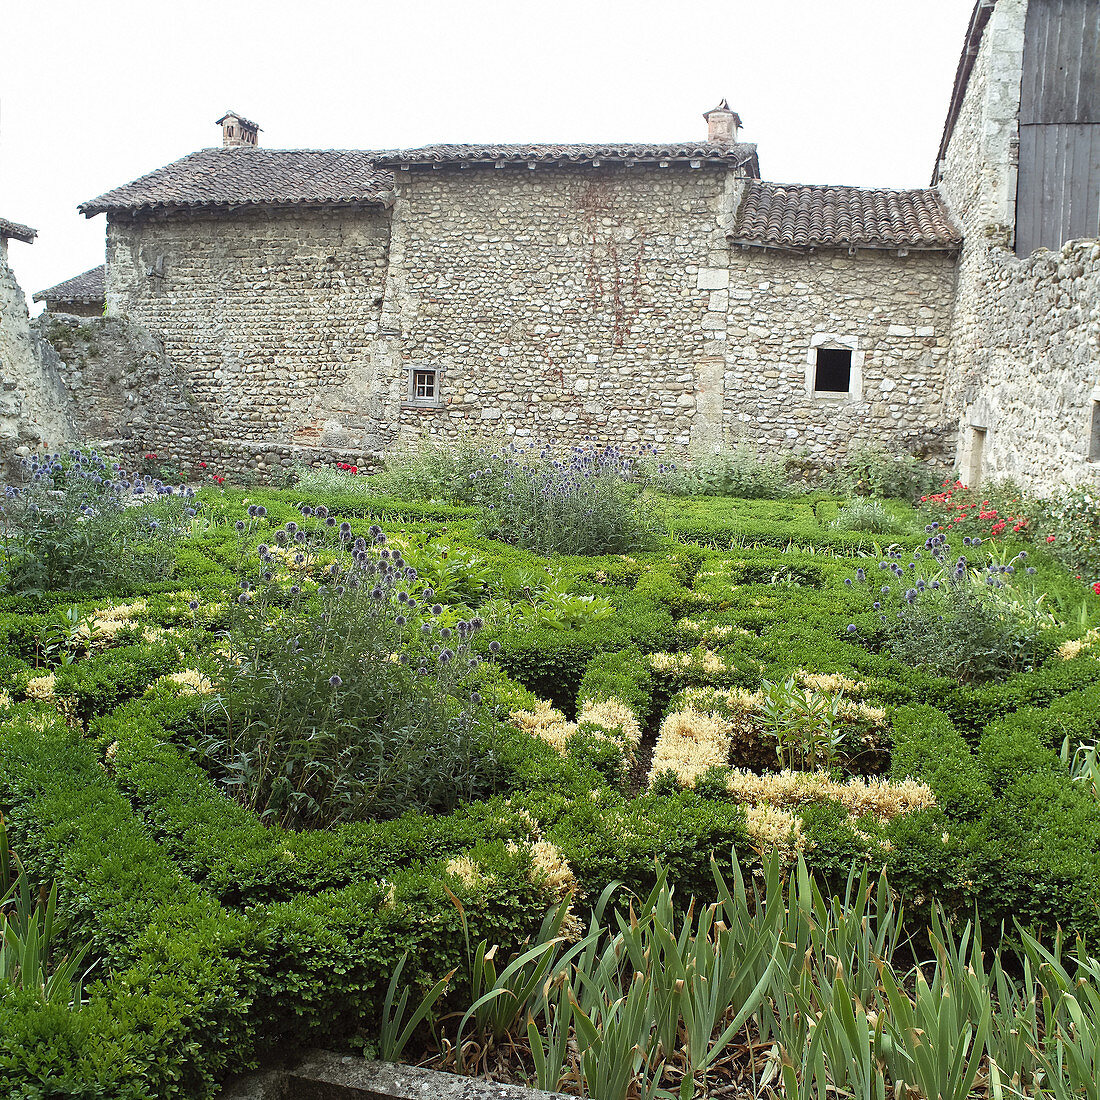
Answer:
[(1026, 13), (1026, 0), (998, 0), (941, 170), (966, 234), (946, 396), (964, 481), (1049, 493), (1100, 473), (1089, 461), (1100, 265), (1094, 241), (1012, 251)]

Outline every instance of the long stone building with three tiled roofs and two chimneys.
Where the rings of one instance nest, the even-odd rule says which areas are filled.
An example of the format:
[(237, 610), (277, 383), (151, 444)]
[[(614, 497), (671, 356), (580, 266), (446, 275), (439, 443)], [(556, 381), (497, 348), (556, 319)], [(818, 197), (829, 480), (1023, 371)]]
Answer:
[(216, 425), (145, 443), (263, 469), (481, 427), (937, 452), (961, 241), (939, 194), (765, 183), (728, 105), (705, 120), (678, 145), (372, 153), (265, 150), (224, 116), (222, 147), (81, 207), (108, 216), (108, 312)]

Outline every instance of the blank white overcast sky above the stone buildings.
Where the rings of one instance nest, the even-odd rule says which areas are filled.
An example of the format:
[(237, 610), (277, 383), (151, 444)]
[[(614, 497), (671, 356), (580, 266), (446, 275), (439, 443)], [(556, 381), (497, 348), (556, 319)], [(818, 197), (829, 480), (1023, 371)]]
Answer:
[(84, 201), (221, 142), (689, 141), (723, 96), (784, 183), (926, 186), (972, 0), (0, 0), (0, 216), (28, 296)]

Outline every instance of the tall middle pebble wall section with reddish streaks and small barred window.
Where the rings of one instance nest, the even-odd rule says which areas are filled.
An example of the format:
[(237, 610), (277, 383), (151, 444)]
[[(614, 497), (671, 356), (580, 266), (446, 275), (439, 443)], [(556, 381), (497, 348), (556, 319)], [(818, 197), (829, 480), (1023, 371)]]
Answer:
[(393, 378), (399, 392), (405, 372), (438, 369), (443, 403), (402, 408), (399, 437), (490, 425), (536, 443), (688, 447), (711, 340), (698, 273), (725, 180), (685, 166), (399, 173)]

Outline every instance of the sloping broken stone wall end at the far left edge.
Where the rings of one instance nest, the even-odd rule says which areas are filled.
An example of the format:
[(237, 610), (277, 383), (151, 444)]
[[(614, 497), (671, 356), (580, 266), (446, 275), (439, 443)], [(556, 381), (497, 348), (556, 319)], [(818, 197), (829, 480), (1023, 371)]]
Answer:
[(74, 438), (68, 394), (43, 362), (26, 298), (0, 251), (0, 471), (12, 459)]

